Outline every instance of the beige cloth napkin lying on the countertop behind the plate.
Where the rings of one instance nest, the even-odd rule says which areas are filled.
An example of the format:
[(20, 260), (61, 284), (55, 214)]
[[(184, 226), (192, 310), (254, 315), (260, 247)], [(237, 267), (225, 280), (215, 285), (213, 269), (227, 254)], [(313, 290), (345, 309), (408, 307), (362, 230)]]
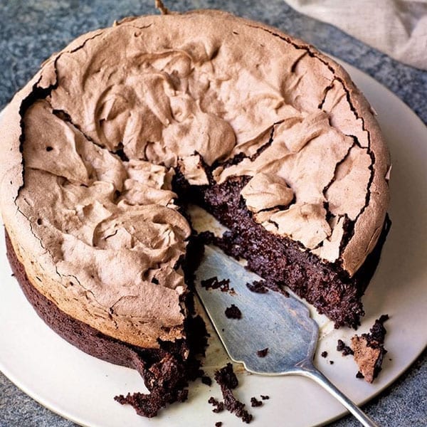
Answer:
[(285, 0), (379, 51), (427, 70), (427, 0)]

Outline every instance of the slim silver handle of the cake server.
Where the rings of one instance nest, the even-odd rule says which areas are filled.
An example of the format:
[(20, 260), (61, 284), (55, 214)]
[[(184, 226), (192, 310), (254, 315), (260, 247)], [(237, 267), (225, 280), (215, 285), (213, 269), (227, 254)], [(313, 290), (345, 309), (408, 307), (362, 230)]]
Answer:
[(334, 396), (335, 399), (337, 399), (342, 405), (344, 405), (356, 418), (360, 423), (362, 423), (362, 426), (365, 427), (379, 427), (378, 424), (374, 423), (374, 421), (367, 416), (362, 409), (360, 409), (356, 404), (354, 404), (353, 401), (351, 401), (345, 394), (342, 393), (342, 391), (339, 391), (332, 382), (327, 379), (325, 375), (322, 374), (322, 372), (318, 371), (311, 361), (305, 360), (301, 362), (300, 364), (297, 364), (298, 368), (297, 371), (295, 371), (295, 374), (299, 374), (302, 376), (306, 376), (307, 378), (310, 378), (317, 382), (317, 384), (320, 384), (325, 390), (329, 391), (332, 396)]

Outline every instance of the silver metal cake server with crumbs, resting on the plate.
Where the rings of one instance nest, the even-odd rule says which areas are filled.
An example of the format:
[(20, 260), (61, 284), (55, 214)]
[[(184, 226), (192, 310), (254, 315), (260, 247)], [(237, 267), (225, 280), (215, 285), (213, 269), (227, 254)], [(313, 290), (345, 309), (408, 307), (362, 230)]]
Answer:
[[(201, 285), (201, 280), (229, 279), (234, 292), (221, 292)], [(261, 278), (223, 254), (205, 246), (196, 271), (196, 292), (228, 355), (245, 369), (261, 375), (302, 375), (313, 379), (341, 402), (363, 426), (377, 426), (350, 399), (318, 371), (313, 363), (319, 328), (307, 307), (295, 297), (280, 292), (255, 293), (246, 283)], [(236, 305), (239, 320), (226, 317), (226, 307)], [(268, 347), (265, 357), (257, 352)]]

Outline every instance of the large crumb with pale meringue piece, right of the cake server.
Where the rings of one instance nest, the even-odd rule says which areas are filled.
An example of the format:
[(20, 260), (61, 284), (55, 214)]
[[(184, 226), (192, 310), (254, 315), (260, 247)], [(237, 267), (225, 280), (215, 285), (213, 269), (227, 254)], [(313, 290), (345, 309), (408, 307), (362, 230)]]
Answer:
[(388, 315), (381, 315), (375, 320), (369, 330), (369, 334), (354, 335), (352, 337), (352, 350), (354, 361), (359, 365), (357, 378), (364, 378), (371, 383), (381, 371), (381, 364), (387, 350), (384, 348), (386, 328), (384, 322), (389, 319)]

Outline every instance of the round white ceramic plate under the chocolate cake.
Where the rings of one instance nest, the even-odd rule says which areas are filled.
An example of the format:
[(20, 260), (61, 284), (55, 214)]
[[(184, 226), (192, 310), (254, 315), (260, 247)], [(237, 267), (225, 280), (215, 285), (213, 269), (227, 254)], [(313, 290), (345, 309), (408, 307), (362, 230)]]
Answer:
[[(326, 350), (328, 357), (317, 357), (315, 363), (344, 393), (361, 404), (391, 384), (427, 343), (427, 130), (398, 97), (359, 70), (345, 66), (378, 112), (393, 159), (389, 209), (393, 225), (379, 268), (364, 296), (367, 316), (359, 329), (366, 332), (379, 315), (388, 313), (389, 353), (374, 384), (356, 379), (357, 367), (352, 358), (342, 357), (335, 350), (337, 339), (349, 342), (354, 331), (330, 330), (326, 323), (317, 354)], [(3, 241), (0, 236), (2, 245)], [(52, 332), (11, 278), (4, 247), (0, 250), (0, 277), (0, 369), (44, 406), (91, 427), (199, 427), (214, 426), (216, 421), (223, 421), (226, 426), (241, 426), (241, 420), (229, 413), (212, 413), (207, 403), (209, 396), (221, 398), (221, 392), (218, 386), (208, 387), (199, 381), (191, 384), (189, 401), (174, 404), (150, 420), (137, 416), (129, 406), (117, 404), (112, 399), (117, 394), (144, 391), (139, 374), (90, 357)], [(212, 374), (226, 360), (214, 337), (206, 371)], [(240, 385), (236, 394), (246, 404), (251, 396), (270, 396), (260, 408), (250, 408), (255, 418), (253, 426), (277, 426), (283, 420), (295, 427), (315, 426), (344, 412), (342, 406), (309, 379), (261, 377), (241, 370), (238, 376)]]

